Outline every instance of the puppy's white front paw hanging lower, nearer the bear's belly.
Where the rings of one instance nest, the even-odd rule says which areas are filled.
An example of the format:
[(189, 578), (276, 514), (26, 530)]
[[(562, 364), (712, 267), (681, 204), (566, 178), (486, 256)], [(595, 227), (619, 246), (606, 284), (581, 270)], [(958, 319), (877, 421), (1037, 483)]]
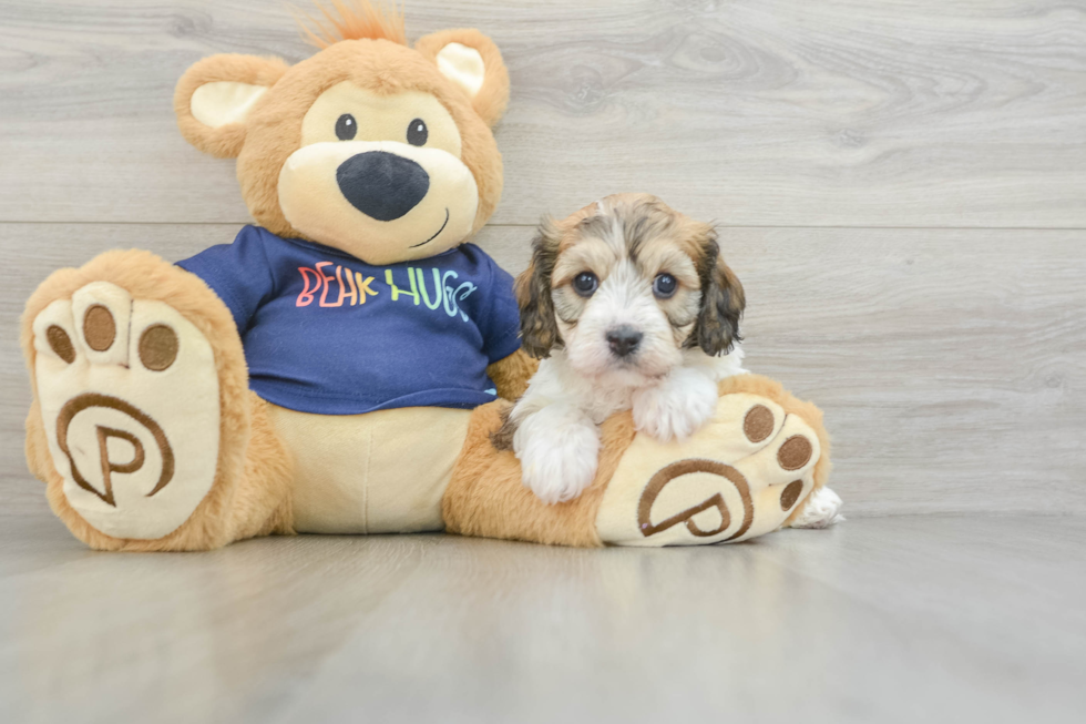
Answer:
[(596, 477), (600, 432), (578, 412), (544, 408), (521, 422), (513, 451), (521, 461), (522, 481), (540, 500), (566, 502)]

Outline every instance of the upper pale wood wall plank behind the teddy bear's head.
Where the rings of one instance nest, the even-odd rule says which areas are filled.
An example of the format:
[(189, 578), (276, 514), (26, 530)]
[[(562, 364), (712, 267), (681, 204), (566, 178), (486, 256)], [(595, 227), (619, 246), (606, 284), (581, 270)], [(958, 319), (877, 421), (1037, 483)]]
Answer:
[[(300, 3), (307, 0), (299, 0)], [(652, 191), (731, 225), (1086, 226), (1086, 6), (412, 0), (512, 78), (495, 223)], [(173, 85), (311, 50), (264, 0), (0, 0), (0, 221), (247, 220)]]

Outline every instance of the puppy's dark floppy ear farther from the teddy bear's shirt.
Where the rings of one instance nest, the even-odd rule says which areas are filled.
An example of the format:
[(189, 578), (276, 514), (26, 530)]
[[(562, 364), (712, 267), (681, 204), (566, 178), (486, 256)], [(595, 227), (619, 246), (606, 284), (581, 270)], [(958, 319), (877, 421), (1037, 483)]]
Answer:
[(739, 277), (720, 256), (713, 227), (706, 225), (701, 232), (700, 248), (697, 266), (701, 281), (701, 309), (686, 346), (700, 347), (705, 354), (716, 356), (731, 351), (737, 341), (742, 341), (739, 318), (747, 299)]

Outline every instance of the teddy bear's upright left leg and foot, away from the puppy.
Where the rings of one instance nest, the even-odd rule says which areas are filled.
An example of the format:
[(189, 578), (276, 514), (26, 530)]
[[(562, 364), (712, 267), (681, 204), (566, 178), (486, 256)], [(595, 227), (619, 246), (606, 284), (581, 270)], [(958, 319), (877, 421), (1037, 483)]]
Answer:
[(288, 532), (290, 465), (248, 390), (226, 306), (147, 252), (50, 276), (27, 303), (27, 457), (102, 550), (208, 550)]

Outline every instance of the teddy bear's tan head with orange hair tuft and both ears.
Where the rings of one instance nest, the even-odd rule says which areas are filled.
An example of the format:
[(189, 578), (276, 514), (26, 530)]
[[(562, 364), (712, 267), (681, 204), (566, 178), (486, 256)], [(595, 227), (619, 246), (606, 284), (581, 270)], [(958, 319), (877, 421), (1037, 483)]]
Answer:
[(477, 232), (498, 205), (491, 128), (509, 100), (494, 43), (445, 30), (407, 44), (402, 17), (336, 0), (320, 48), (295, 65), (212, 55), (182, 77), (177, 122), (194, 146), (237, 159), (268, 231), (370, 264), (424, 258)]

